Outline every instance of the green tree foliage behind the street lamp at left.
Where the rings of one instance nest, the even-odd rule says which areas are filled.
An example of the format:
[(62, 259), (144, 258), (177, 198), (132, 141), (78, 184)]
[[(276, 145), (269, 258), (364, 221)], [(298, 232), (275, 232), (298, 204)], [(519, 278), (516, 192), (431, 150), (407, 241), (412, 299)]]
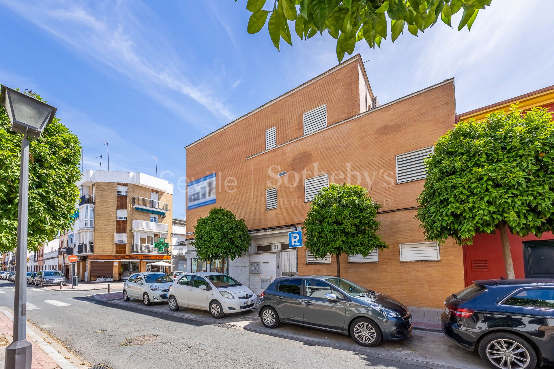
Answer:
[[(32, 96), (42, 100), (40, 96)], [(10, 129), (0, 107), (0, 253), (16, 247), (19, 168), (22, 134)], [(29, 139), (28, 247), (37, 249), (73, 225), (76, 183), (80, 179), (81, 144), (60, 119), (47, 124), (39, 138)]]

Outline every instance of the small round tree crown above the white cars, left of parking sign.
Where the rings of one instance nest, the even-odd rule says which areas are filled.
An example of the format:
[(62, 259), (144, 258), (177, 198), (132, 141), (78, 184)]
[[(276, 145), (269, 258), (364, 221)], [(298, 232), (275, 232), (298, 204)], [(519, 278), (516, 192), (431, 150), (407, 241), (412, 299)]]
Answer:
[(194, 246), (203, 261), (226, 257), (234, 260), (248, 251), (250, 235), (244, 219), (237, 219), (232, 211), (214, 207), (194, 226)]

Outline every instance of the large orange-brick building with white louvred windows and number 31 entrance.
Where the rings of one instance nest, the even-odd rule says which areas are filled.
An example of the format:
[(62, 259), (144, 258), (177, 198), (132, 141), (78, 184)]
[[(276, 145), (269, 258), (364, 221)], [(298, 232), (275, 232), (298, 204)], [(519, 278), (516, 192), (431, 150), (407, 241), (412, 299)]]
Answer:
[(423, 159), (455, 119), (454, 80), (379, 106), (356, 55), (186, 147), (187, 230), (213, 206), (243, 218), (252, 245), (228, 272), (258, 294), (281, 275), (333, 275), (334, 256), (289, 248), (288, 232), (301, 229), (320, 188), (360, 184), (383, 205), (389, 248), (343, 255), (341, 276), (411, 306), (440, 307), (464, 287), (463, 250), (426, 242), (414, 216)]

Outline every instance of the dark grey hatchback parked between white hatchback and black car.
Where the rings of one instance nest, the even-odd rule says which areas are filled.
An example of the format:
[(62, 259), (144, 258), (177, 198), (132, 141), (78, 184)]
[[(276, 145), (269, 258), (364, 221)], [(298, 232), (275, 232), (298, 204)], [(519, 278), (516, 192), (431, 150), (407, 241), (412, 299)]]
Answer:
[(402, 303), (332, 276), (278, 278), (260, 295), (257, 313), (267, 328), (304, 325), (350, 334), (366, 347), (412, 334), (412, 315)]

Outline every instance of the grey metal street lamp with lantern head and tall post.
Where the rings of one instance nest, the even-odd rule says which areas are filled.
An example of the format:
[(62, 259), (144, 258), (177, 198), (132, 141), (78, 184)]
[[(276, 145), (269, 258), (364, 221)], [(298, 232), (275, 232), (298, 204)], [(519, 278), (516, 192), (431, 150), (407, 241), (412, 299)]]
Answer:
[(27, 254), (27, 217), (29, 201), (29, 140), (37, 138), (46, 124), (52, 122), (56, 108), (22, 92), (2, 86), (0, 105), (6, 108), (11, 129), (23, 134), (19, 173), (19, 204), (17, 215), (16, 297), (13, 311), (13, 342), (6, 348), (6, 369), (30, 369), (32, 344), (27, 341), (27, 290), (23, 270)]

